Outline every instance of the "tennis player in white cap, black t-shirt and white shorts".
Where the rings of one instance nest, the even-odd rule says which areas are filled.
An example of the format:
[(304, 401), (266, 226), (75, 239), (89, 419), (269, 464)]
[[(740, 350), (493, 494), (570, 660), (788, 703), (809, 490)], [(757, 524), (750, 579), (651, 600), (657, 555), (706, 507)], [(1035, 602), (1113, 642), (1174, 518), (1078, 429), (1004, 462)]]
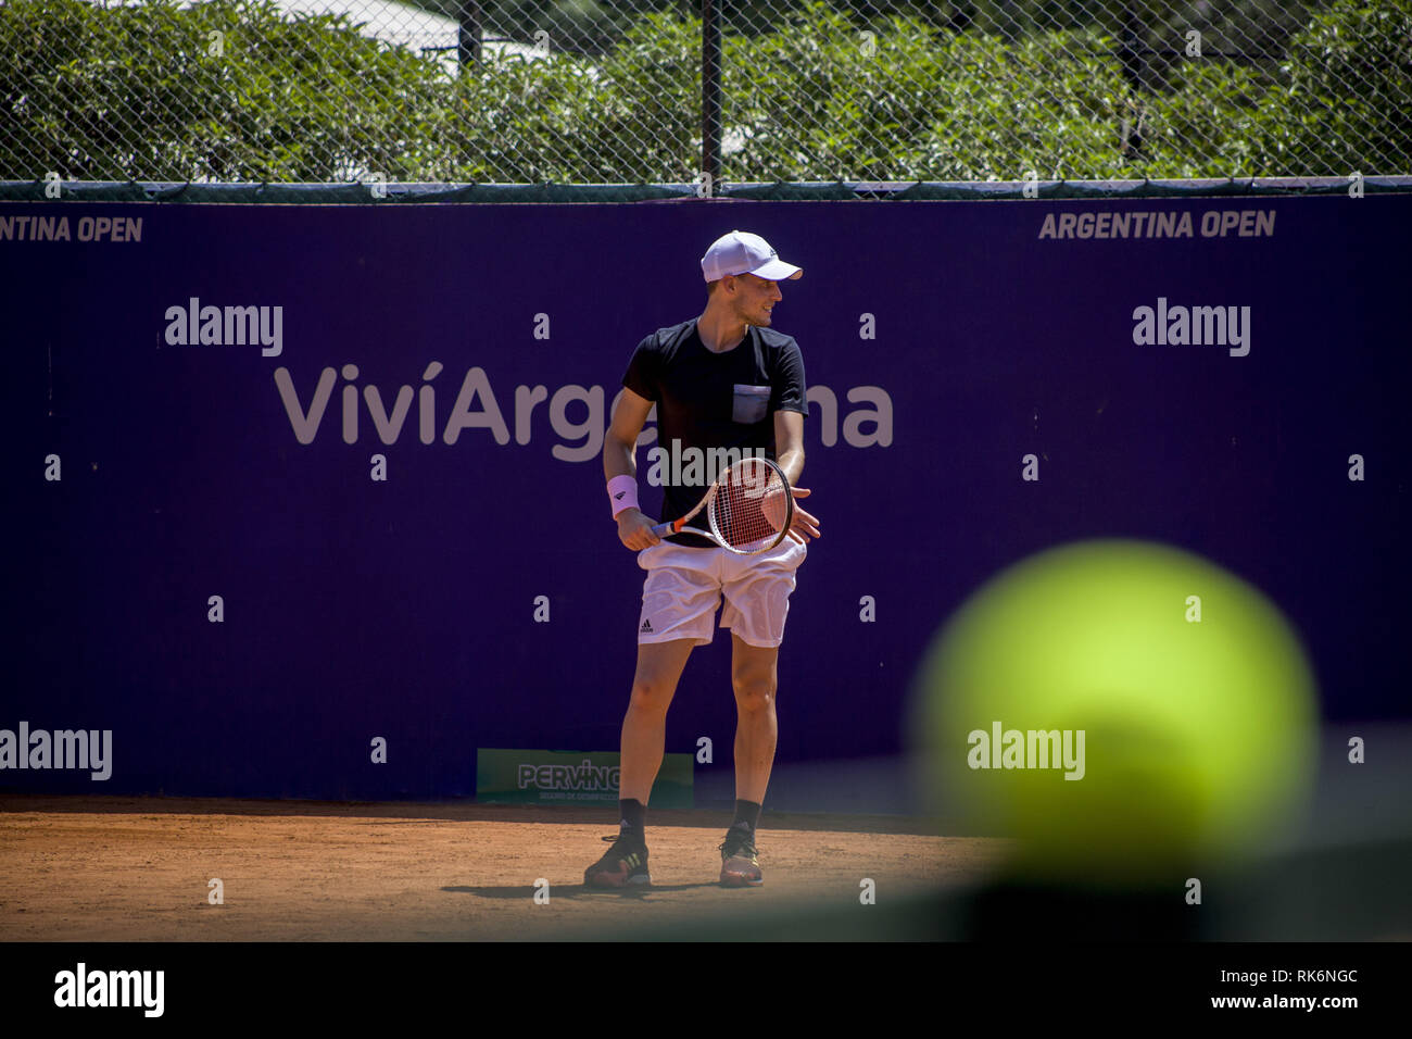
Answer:
[[(658, 539), (657, 522), (637, 502), (637, 437), (657, 406), (658, 444), (678, 462), (662, 466), (662, 520), (685, 516), (714, 479), (693, 461), (712, 452), (762, 452), (794, 488), (803, 469), (803, 359), (799, 345), (771, 328), (779, 281), (803, 271), (782, 262), (758, 235), (734, 230), (702, 257), (706, 310), (638, 344), (623, 376), (623, 396), (603, 444), (603, 474), (618, 540), (647, 571), (637, 632), (637, 670), (623, 718), (620, 821), (613, 847), (589, 867), (590, 886), (651, 884), (647, 865), (647, 800), (662, 763), (666, 708), (686, 659), (712, 640), (716, 609), (730, 629), (736, 693), (736, 818), (720, 845), (720, 882), (762, 882), (755, 848), (760, 806), (775, 759), (775, 660), (785, 632), (795, 571), (819, 522), (801, 507), (775, 548), (737, 556), (688, 533), (706, 527), (705, 510), (681, 534)], [(693, 458), (695, 452), (695, 458)], [(722, 454), (716, 454), (722, 458)], [(724, 468), (724, 466), (720, 466)], [(707, 478), (710, 476), (710, 478)], [(675, 479), (675, 482), (672, 482)]]

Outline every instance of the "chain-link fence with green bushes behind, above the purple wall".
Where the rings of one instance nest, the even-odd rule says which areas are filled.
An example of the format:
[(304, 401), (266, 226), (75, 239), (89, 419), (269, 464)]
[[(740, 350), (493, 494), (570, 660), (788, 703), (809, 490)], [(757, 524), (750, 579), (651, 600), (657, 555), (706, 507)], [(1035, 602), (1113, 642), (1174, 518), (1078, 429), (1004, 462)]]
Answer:
[(1412, 0), (0, 0), (0, 180), (1412, 172)]

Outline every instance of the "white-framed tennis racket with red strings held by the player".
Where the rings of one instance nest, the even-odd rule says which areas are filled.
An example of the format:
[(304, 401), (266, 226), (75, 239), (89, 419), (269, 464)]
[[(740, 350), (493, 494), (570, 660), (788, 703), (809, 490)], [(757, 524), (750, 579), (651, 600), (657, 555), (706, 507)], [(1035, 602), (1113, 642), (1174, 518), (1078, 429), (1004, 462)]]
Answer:
[(789, 533), (794, 493), (785, 474), (768, 458), (741, 458), (720, 474), (695, 509), (681, 519), (658, 523), (652, 533), (679, 534), (702, 509), (710, 533), (692, 527), (693, 534), (710, 537), (737, 556), (758, 556)]

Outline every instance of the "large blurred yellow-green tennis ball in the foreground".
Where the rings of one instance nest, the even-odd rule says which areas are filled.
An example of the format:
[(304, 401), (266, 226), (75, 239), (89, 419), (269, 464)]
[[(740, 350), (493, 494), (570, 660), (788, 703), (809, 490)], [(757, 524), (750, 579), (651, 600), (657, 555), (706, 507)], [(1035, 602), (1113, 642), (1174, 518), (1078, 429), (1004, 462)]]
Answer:
[(1313, 679), (1279, 611), (1151, 543), (1004, 571), (938, 635), (916, 693), (939, 804), (1021, 838), (1019, 871), (1046, 879), (1180, 884), (1245, 858), (1315, 768)]

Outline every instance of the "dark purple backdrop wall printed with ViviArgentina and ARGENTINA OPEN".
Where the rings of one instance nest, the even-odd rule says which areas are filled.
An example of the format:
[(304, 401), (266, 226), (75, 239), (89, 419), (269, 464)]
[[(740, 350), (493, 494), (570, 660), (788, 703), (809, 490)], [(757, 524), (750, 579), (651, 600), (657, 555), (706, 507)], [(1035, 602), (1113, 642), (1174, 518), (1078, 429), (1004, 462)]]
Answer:
[[(1113, 213), (1127, 237), (1059, 236), (1111, 235)], [(1192, 233), (1148, 236), (1168, 228), (1144, 218), (1137, 236), (1135, 213), (1187, 215)], [(113, 240), (131, 221), (140, 239)], [(61, 222), (68, 237), (45, 237)], [(1327, 718), (1408, 715), (1412, 196), (61, 202), (0, 206), (0, 728), (112, 729), (104, 793), (466, 796), (477, 746), (614, 749), (641, 571), (596, 448), (633, 346), (699, 312), (698, 259), (731, 228), (803, 266), (775, 327), (839, 413), (836, 431), (819, 407), (806, 423), (825, 539), (781, 653), (781, 762), (895, 753), (946, 615), (1005, 564), (1091, 536), (1176, 544), (1261, 587), (1305, 638)], [(168, 311), (192, 298), (280, 307), (278, 355), (169, 342), (185, 321)], [(1248, 353), (1135, 342), (1135, 308), (1159, 298), (1248, 307)], [(277, 373), (308, 407), (346, 365), (299, 442)], [(448, 444), (477, 370), (508, 442), (473, 425)], [(391, 409), (402, 386), (431, 387), (433, 442), (419, 397), (395, 442), (378, 437), (363, 387)], [(527, 411), (520, 387), (538, 386), (549, 400)], [(709, 735), (729, 761), (727, 650), (717, 633), (689, 666), (669, 751)], [(369, 763), (376, 735), (385, 766)], [(0, 789), (95, 787), (8, 769)]]

